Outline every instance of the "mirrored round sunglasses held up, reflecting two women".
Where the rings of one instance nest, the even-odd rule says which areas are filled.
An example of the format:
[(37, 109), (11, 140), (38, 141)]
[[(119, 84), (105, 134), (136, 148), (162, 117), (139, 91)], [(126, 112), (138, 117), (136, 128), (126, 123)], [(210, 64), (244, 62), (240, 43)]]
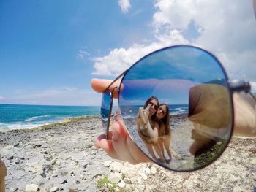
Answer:
[[(110, 89), (119, 79), (120, 86)], [(102, 94), (107, 139), (113, 94), (118, 93), (118, 110), (129, 137), (151, 161), (173, 171), (202, 169), (223, 153), (233, 133), (233, 93), (239, 92), (255, 104), (249, 82), (228, 80), (214, 55), (189, 45), (150, 53), (116, 80)], [(165, 122), (157, 119), (156, 112), (144, 112), (152, 98), (169, 108)], [(146, 115), (150, 120), (147, 128), (143, 127)], [(148, 129), (157, 127), (158, 134), (148, 134)]]

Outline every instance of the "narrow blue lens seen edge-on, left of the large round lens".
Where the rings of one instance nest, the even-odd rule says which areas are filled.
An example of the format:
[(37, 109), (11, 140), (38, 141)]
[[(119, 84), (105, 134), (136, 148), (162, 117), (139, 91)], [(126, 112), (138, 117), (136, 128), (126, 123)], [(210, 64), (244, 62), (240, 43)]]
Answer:
[(108, 126), (108, 115), (110, 113), (110, 102), (111, 102), (111, 96), (110, 91), (106, 91), (105, 93), (102, 93), (102, 105), (101, 105), (101, 118), (102, 118), (102, 126), (104, 131), (107, 130)]

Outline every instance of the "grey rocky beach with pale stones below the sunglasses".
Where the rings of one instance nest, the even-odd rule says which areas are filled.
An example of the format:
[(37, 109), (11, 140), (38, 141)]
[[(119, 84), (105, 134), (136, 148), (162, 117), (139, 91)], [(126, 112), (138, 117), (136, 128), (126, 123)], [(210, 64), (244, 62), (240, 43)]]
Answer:
[(0, 132), (7, 191), (253, 191), (256, 138), (233, 137), (222, 156), (196, 172), (115, 161), (94, 147), (99, 116)]

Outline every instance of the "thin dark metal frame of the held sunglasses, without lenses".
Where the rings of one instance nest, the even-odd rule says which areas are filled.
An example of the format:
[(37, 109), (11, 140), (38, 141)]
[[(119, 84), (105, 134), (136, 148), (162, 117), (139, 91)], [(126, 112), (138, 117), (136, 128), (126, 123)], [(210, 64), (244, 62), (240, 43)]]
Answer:
[[(227, 145), (228, 143), (230, 142), (230, 139), (232, 137), (232, 134), (233, 134), (233, 127), (234, 127), (234, 109), (233, 109), (233, 93), (234, 92), (241, 92), (241, 91), (244, 91), (245, 93), (249, 93), (253, 99), (255, 99), (256, 101), (256, 98), (255, 96), (250, 93), (251, 91), (251, 86), (249, 84), (249, 82), (245, 82), (245, 81), (241, 81), (241, 80), (228, 80), (228, 77), (227, 77), (227, 73), (224, 69), (224, 67), (222, 66), (222, 64), (220, 63), (220, 61), (213, 55), (211, 54), (210, 52), (208, 52), (207, 50), (203, 50), (202, 48), (200, 47), (195, 47), (195, 46), (191, 46), (191, 45), (175, 45), (175, 46), (170, 46), (170, 47), (165, 47), (165, 48), (162, 48), (162, 49), (159, 49), (159, 50), (156, 50), (152, 53), (149, 53), (148, 55), (152, 55), (154, 53), (157, 53), (157, 52), (160, 52), (162, 50), (166, 50), (166, 49), (171, 49), (173, 47), (192, 47), (192, 48), (196, 48), (198, 50), (202, 50), (203, 52), (209, 54), (212, 56), (212, 58), (214, 58), (216, 61), (217, 61), (217, 64), (219, 64), (220, 68), (222, 69), (222, 72), (224, 73), (225, 75), (225, 80), (227, 81), (227, 89), (229, 91), (229, 95), (230, 95), (230, 103), (231, 103), (231, 113), (232, 113), (232, 123), (231, 123), (231, 132), (230, 132), (230, 138), (227, 139)], [(132, 69), (133, 66), (135, 66), (136, 64), (138, 64), (141, 60), (143, 60), (144, 58), (148, 57), (148, 55), (145, 55), (143, 58), (140, 58), (140, 60), (138, 60), (137, 62), (135, 62), (135, 64), (133, 64), (129, 69), (125, 70), (124, 72), (122, 72), (120, 75), (118, 75), (118, 77), (116, 77), (115, 80), (113, 80), (113, 82), (110, 83), (110, 85), (108, 85), (108, 88), (105, 89), (104, 93), (106, 92), (109, 92), (110, 93), (110, 110), (109, 110), (109, 114), (108, 114), (108, 123), (107, 123), (107, 128), (106, 128), (106, 139), (108, 139), (109, 137), (109, 127), (110, 127), (110, 118), (111, 118), (111, 114), (112, 114), (112, 108), (113, 108), (113, 93), (114, 91), (116, 90), (117, 91), (117, 94), (118, 94), (118, 105), (119, 105), (119, 91), (120, 91), (120, 88), (121, 88), (121, 82), (123, 82), (124, 80), (124, 77), (126, 76), (126, 74), (129, 72), (129, 70)], [(120, 78), (122, 77), (121, 79), (121, 82), (120, 82), (120, 85), (117, 87), (114, 87), (114, 88), (111, 88), (111, 85), (113, 85), (117, 80), (119, 80)], [(129, 134), (129, 133), (128, 133)], [(227, 147), (227, 145), (225, 145), (225, 148)], [(225, 150), (224, 148), (224, 150)], [(140, 149), (140, 148), (139, 148)], [(222, 151), (222, 153), (224, 152), (224, 150)], [(143, 150), (140, 149), (140, 151), (143, 152)], [(220, 153), (219, 155), (217, 155), (215, 158), (213, 158), (211, 161), (208, 162), (208, 164), (205, 164), (204, 166), (200, 167), (200, 168), (197, 168), (197, 169), (202, 169), (206, 166), (208, 166), (209, 164), (211, 164), (212, 162), (216, 161), (217, 158), (219, 158), (220, 155), (222, 155), (222, 153)], [(144, 153), (145, 154), (145, 153)], [(146, 155), (146, 154), (145, 154)], [(154, 161), (151, 159), (151, 161)], [(155, 163), (157, 163), (156, 161), (154, 161)], [(158, 164), (158, 163), (157, 163)], [(162, 165), (164, 166), (164, 165)], [(170, 169), (169, 167), (165, 166), (167, 169)], [(197, 169), (192, 169), (193, 171), (197, 170)], [(182, 170), (182, 171), (179, 171), (179, 172), (189, 172), (189, 171), (192, 171), (192, 170)]]

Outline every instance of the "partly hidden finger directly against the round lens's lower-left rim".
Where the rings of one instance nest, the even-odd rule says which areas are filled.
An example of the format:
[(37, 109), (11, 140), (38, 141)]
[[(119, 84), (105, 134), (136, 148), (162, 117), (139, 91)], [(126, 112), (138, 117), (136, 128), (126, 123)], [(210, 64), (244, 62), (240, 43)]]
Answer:
[(129, 150), (129, 153), (132, 154), (132, 158), (137, 161), (137, 163), (140, 162), (152, 162), (144, 153), (140, 151), (140, 149), (135, 145), (135, 142), (132, 141), (132, 139), (127, 136), (127, 148)]

